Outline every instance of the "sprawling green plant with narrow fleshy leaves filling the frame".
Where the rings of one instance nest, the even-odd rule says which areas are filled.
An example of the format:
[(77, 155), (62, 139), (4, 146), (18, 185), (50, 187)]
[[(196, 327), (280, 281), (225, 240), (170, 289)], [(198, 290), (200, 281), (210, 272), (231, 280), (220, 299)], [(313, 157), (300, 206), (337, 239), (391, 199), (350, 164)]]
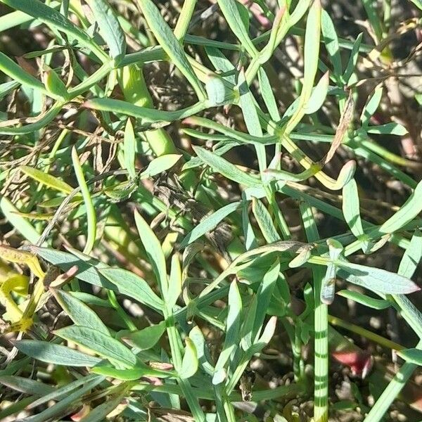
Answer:
[[(229, 42), (194, 34), (203, 16), (196, 0), (180, 2), (175, 23), (152, 0), (1, 3), (14, 11), (4, 8), (0, 31), (36, 28), (47, 40), (18, 63), (0, 52), (0, 210), (13, 234), (0, 246), (11, 336), (0, 383), (14, 400), (1, 418), (257, 421), (264, 416), (238, 403), (252, 400), (269, 420), (296, 421), (304, 411), (289, 401), (299, 397), (312, 402), (309, 418), (325, 422), (330, 353), (354, 376), (387, 385), (371, 410), (354, 386), (354, 400), (333, 411), (359, 408), (365, 421), (380, 421), (397, 397), (422, 410), (412, 402), (421, 391), (411, 381), (404, 388), (422, 362), (422, 316), (406, 296), (419, 290), (421, 166), (373, 140), (410, 131), (397, 116), (373, 122), (383, 82), (397, 76), (390, 41), (418, 21), (399, 32), (389, 1), (383, 18), (362, 1), (373, 36), (364, 44), (362, 34), (338, 37), (319, 0), (250, 8), (218, 0)], [(251, 37), (258, 6), (270, 29)], [(303, 43), (303, 75), (281, 114), (274, 60), (288, 37)], [(177, 98), (154, 86), (151, 69), (157, 79), (166, 72), (165, 84), (176, 80)], [(362, 101), (359, 87), (370, 82)], [(256, 166), (234, 163), (239, 147)], [(362, 195), (355, 172), (364, 163), (397, 181), (402, 205)], [(338, 222), (328, 234), (321, 215)], [(377, 261), (382, 248), (404, 250), (397, 271)], [(6, 262), (26, 264), (29, 275)], [(329, 315), (341, 300), (337, 282), (359, 286), (338, 296), (368, 312), (397, 312), (416, 348)], [(372, 368), (335, 326), (406, 362), (394, 378), (382, 364)], [(304, 353), (311, 345), (314, 359)], [(274, 347), (291, 383), (260, 386), (248, 367), (271, 366)]]

